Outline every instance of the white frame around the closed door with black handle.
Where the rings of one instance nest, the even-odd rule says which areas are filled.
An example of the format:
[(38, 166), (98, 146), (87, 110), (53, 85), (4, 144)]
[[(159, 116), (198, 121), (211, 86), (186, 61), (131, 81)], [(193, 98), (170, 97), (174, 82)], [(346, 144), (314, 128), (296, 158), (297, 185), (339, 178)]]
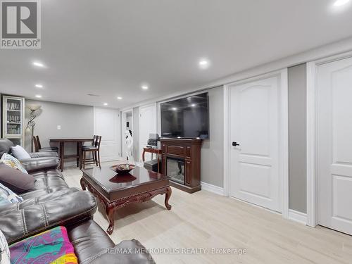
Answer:
[[(231, 84), (244, 84), (269, 77), (280, 78), (279, 101), (279, 181), (282, 199), (282, 217), (289, 218), (289, 96), (287, 68), (272, 73), (251, 77), (245, 80), (237, 80)], [(230, 196), (230, 89), (224, 85), (224, 195)]]

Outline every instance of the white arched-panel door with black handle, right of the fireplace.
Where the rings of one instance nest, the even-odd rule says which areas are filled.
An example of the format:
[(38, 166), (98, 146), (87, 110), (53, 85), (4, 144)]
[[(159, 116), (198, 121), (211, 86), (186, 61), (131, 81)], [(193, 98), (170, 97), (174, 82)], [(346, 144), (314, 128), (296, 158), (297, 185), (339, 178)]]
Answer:
[(279, 77), (232, 84), (230, 96), (230, 194), (281, 212)]

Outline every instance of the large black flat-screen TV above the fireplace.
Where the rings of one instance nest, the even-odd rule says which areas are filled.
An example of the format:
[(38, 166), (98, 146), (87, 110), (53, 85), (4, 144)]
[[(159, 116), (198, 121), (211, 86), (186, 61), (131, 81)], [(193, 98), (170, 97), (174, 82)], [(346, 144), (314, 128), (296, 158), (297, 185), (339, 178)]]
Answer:
[(161, 103), (161, 137), (209, 138), (208, 93)]

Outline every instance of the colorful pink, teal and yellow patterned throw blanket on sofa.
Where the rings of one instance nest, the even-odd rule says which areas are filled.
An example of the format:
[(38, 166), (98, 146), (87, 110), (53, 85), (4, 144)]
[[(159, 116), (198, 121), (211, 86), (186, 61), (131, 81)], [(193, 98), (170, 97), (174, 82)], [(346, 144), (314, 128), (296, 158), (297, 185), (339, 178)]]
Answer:
[(65, 227), (55, 227), (10, 246), (11, 263), (77, 263)]

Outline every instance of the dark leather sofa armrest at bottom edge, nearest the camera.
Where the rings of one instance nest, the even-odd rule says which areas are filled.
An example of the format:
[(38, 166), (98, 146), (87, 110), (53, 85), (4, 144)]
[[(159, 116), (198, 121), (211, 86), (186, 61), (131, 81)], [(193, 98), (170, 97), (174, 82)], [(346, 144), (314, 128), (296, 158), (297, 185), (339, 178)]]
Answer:
[(111, 249), (105, 249), (100, 253), (84, 260), (82, 264), (101, 263), (131, 263), (131, 264), (152, 264), (155, 263), (151, 254), (136, 239), (124, 240)]

